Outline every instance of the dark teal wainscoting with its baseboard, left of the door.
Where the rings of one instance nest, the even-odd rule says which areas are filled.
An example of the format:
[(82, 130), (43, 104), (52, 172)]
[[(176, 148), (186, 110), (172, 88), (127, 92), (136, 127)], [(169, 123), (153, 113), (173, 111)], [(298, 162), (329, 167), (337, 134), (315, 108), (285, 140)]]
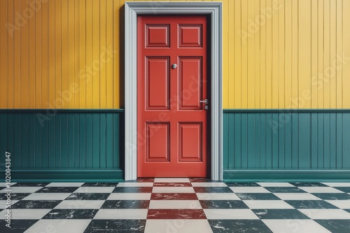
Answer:
[(123, 110), (0, 110), (0, 172), (12, 181), (120, 181)]

